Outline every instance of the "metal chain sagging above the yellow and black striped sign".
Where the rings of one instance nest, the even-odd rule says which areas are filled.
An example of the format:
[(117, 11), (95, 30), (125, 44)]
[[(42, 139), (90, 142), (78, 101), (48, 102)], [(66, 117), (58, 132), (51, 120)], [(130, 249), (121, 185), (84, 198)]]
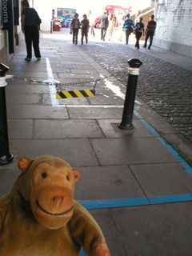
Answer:
[(95, 87), (97, 86), (97, 83), (102, 81), (102, 80), (105, 80), (106, 78), (110, 78), (111, 76), (113, 76), (113, 74), (110, 74), (106, 77), (103, 77), (103, 78), (98, 78), (98, 79), (92, 79), (92, 80), (89, 80), (89, 81), (83, 81), (83, 82), (65, 82), (65, 83), (62, 83), (62, 82), (42, 82), (42, 81), (38, 81), (38, 80), (34, 80), (34, 79), (31, 79), (31, 78), (17, 78), (16, 76), (13, 75), (13, 78), (17, 79), (17, 80), (21, 80), (21, 81), (25, 81), (25, 82), (34, 82), (34, 83), (37, 83), (37, 84), (44, 84), (44, 85), (52, 85), (52, 86), (56, 86), (56, 89), (57, 91), (59, 91), (58, 89), (58, 86), (74, 86), (74, 85), (84, 85), (86, 83), (94, 83), (94, 87), (93, 87), (93, 90), (95, 90)]

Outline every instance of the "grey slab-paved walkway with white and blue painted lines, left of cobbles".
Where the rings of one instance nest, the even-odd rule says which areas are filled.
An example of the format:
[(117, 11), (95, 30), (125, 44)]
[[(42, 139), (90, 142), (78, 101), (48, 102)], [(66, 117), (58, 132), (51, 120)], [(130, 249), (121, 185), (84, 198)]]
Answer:
[[(70, 37), (42, 34), (42, 60), (32, 62), (24, 60), (23, 41), (10, 61), (9, 74), (68, 82), (59, 87), (64, 90), (92, 89), (92, 83), (84, 82), (109, 73)], [(191, 255), (191, 151), (178, 154), (161, 136), (162, 131), (177, 137), (174, 128), (137, 98), (134, 133), (119, 130), (126, 88), (113, 76), (97, 84), (94, 98), (60, 100), (54, 85), (7, 82), (14, 162), (0, 166), (0, 196), (19, 173), (18, 158), (52, 154), (79, 170), (74, 197), (98, 221), (111, 255)], [(151, 126), (154, 120), (158, 129)], [(187, 146), (180, 142), (181, 148)]]

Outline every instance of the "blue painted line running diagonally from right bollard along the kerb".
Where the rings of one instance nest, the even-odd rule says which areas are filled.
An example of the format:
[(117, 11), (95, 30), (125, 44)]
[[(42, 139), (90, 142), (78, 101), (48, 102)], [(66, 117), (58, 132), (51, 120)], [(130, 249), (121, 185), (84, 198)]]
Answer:
[(174, 156), (174, 158), (182, 165), (182, 167), (192, 176), (192, 166), (190, 166), (184, 158), (169, 143), (166, 142), (164, 138), (162, 138), (156, 130), (146, 120), (142, 117), (141, 114), (138, 113), (137, 110), (134, 110), (134, 114), (139, 118), (139, 120), (143, 123), (144, 126), (148, 130), (150, 130), (151, 134), (154, 134), (155, 138), (158, 138), (158, 141), (162, 143), (163, 146)]

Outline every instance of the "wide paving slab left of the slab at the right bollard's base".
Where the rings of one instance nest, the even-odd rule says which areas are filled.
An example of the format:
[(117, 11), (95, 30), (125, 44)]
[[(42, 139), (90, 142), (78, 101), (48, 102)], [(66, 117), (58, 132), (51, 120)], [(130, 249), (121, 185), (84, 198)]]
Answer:
[(34, 130), (34, 138), (104, 138), (95, 120), (34, 120)]

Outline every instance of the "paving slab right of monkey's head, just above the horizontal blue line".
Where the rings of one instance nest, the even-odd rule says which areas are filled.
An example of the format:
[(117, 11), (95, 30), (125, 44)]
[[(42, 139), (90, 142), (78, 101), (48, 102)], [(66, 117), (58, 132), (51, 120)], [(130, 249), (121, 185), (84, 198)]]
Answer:
[(145, 197), (128, 166), (89, 166), (78, 171), (80, 179), (74, 192), (77, 200)]

